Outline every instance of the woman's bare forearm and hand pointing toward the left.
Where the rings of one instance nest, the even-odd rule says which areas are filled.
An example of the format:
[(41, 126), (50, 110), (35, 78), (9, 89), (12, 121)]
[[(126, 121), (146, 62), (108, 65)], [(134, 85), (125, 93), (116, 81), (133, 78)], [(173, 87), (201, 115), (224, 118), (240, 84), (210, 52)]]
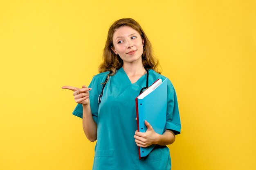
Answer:
[(87, 139), (94, 142), (97, 139), (97, 124), (92, 118), (92, 111), (90, 107), (89, 91), (85, 85), (81, 89), (72, 86), (63, 86), (63, 89), (72, 90), (76, 103), (83, 106), (83, 131)]

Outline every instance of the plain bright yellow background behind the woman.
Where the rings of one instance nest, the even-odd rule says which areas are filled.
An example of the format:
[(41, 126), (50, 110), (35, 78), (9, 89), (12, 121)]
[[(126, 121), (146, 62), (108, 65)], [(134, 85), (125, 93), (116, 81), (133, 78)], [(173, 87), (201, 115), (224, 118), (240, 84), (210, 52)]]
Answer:
[(1, 0), (0, 169), (90, 170), (94, 143), (72, 92), (101, 62), (108, 28), (132, 17), (178, 97), (173, 170), (255, 170), (255, 0)]

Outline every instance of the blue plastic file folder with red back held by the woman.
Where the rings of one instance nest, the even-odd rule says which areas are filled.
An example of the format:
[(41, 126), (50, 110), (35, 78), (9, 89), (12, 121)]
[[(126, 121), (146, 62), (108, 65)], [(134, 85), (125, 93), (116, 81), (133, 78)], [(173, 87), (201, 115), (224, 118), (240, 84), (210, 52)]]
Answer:
[[(146, 132), (147, 127), (144, 121), (147, 120), (153, 127), (154, 131), (162, 135), (165, 131), (166, 123), (167, 80), (165, 79), (162, 82), (162, 79), (158, 79), (148, 87), (148, 89), (140, 94), (135, 101), (138, 131)], [(141, 157), (146, 157), (154, 147), (155, 145), (151, 145), (146, 148), (139, 147), (139, 159), (141, 159)]]

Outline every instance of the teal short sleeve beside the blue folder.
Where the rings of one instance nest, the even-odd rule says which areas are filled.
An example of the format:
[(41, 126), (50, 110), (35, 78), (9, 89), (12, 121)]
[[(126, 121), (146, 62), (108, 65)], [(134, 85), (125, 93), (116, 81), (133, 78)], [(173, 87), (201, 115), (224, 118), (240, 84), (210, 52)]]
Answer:
[(167, 114), (166, 114), (166, 125), (165, 129), (169, 129), (175, 133), (180, 134), (180, 113), (178, 108), (177, 96), (175, 89), (168, 79), (167, 87)]

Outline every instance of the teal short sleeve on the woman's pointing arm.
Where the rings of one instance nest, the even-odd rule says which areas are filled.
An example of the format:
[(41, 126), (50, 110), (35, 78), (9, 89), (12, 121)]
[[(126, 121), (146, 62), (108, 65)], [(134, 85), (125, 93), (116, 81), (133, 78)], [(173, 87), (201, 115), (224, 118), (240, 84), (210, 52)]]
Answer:
[[(92, 88), (90, 93), (90, 107), (92, 111), (92, 118), (97, 123), (98, 121), (98, 109), (99, 109), (99, 92), (101, 90), (101, 81), (97, 76), (94, 76), (92, 78), (92, 81), (88, 87)], [(76, 108), (74, 109), (73, 113), (74, 116), (78, 116), (80, 118), (83, 118), (83, 106), (81, 104), (77, 104)]]

